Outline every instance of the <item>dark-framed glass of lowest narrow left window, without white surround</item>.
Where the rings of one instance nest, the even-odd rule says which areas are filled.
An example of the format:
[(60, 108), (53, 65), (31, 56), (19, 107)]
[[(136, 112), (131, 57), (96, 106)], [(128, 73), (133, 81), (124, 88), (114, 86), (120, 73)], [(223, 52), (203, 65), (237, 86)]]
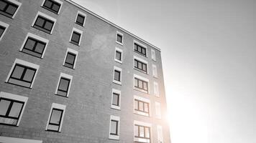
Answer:
[(62, 109), (52, 109), (50, 114), (50, 121), (47, 127), (49, 131), (59, 131), (61, 118), (63, 117)]

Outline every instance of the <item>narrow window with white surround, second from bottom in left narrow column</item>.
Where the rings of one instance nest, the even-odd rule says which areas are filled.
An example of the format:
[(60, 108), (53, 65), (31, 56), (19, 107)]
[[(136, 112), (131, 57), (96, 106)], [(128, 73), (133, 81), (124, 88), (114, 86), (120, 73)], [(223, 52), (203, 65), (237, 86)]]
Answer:
[(73, 77), (68, 74), (60, 73), (60, 78), (55, 94), (68, 97), (72, 78)]

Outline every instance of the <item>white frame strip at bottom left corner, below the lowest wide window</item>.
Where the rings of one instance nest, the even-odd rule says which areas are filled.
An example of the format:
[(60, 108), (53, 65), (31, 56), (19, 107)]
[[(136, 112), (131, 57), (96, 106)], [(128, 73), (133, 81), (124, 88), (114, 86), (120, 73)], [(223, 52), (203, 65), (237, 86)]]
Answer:
[(35, 140), (35, 139), (22, 139), (22, 138), (16, 138), (16, 137), (0, 137), (0, 142), (4, 143), (42, 143), (41, 140)]

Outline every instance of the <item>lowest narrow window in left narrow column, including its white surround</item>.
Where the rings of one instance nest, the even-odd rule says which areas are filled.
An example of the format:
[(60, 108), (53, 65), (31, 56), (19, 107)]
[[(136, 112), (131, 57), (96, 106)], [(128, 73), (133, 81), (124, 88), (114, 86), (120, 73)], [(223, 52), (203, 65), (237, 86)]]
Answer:
[(52, 103), (46, 130), (60, 132), (65, 114), (65, 105)]

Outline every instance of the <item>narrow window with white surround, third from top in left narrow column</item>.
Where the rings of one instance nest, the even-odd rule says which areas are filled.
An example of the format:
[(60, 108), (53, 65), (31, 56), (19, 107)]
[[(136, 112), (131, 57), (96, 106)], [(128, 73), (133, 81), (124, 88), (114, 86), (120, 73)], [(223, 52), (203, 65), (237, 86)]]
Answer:
[(75, 51), (73, 49), (69, 49), (67, 50), (66, 54), (65, 54), (65, 60), (64, 60), (64, 63), (63, 65), (64, 66), (67, 66), (71, 69), (75, 69), (75, 66), (76, 66), (76, 59), (77, 59), (77, 56), (78, 56), (78, 51)]

